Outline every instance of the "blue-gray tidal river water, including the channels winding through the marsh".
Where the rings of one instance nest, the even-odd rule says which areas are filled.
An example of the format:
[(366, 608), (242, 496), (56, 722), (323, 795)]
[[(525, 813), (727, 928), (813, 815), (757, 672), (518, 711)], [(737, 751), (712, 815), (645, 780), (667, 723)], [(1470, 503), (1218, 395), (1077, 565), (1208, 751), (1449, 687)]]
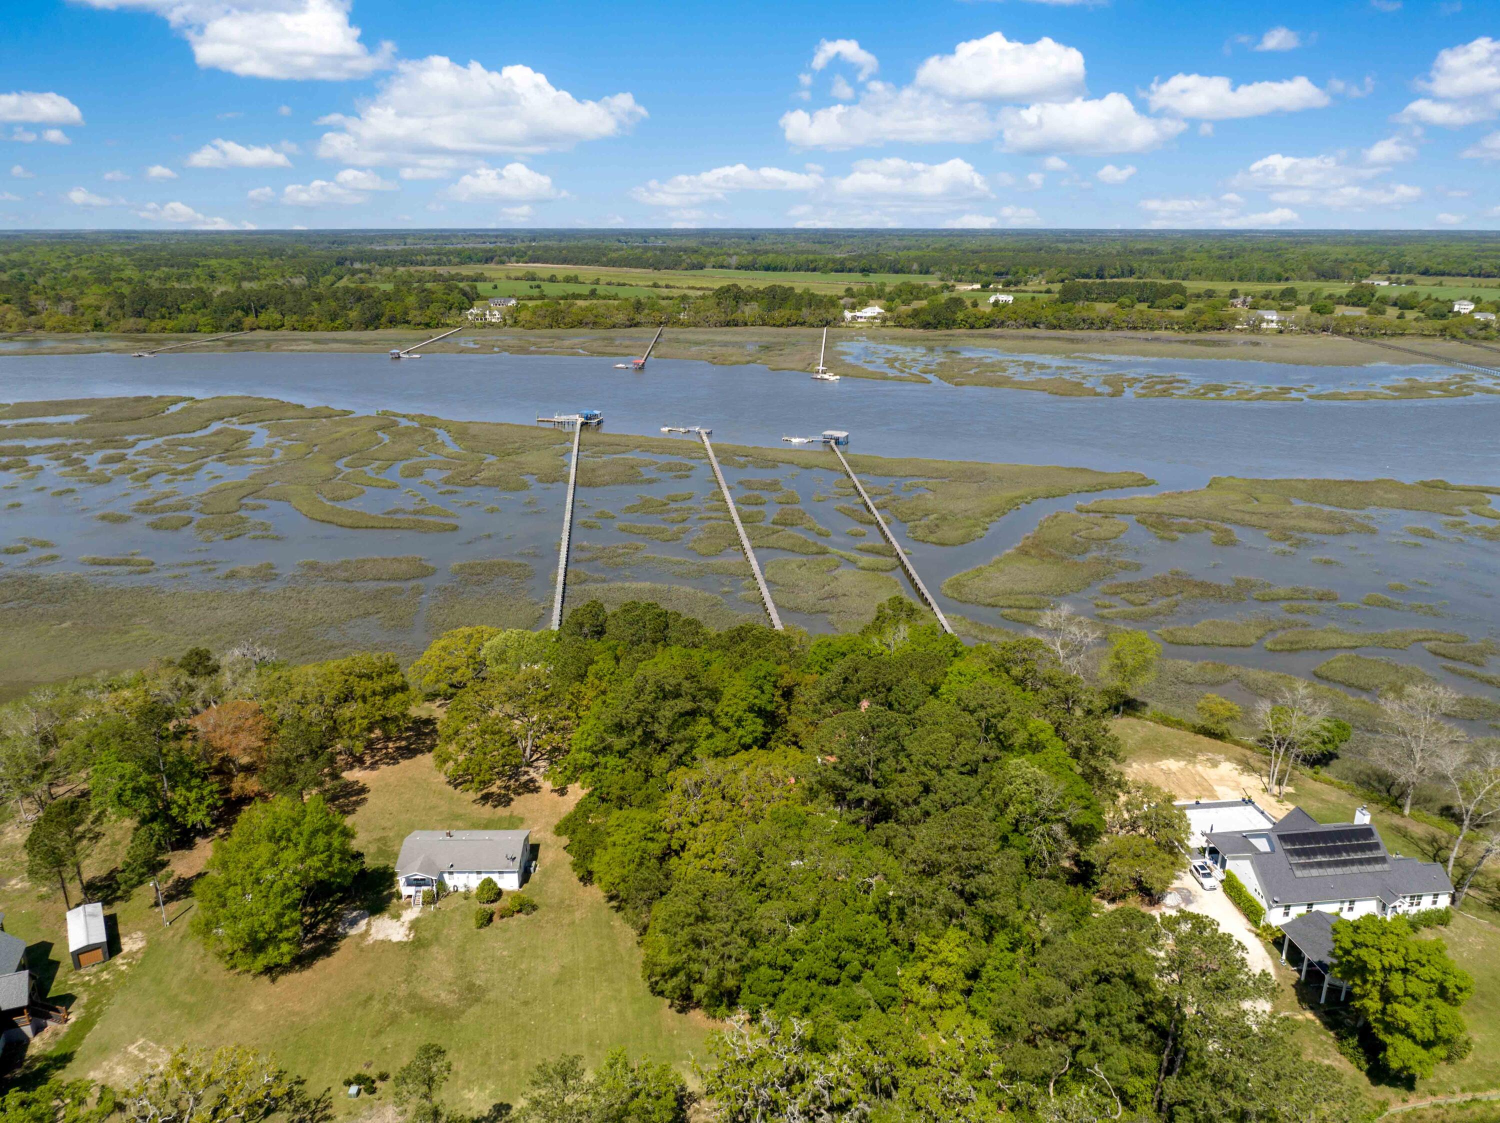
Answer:
[[(1160, 364), (1162, 360), (1156, 360)], [(1236, 360), (1182, 360), (1182, 373), (1224, 382), (1263, 382), (1260, 363)], [(1245, 367), (1244, 370), (1239, 367)], [(1254, 367), (1254, 369), (1252, 369)], [(1410, 373), (1430, 373), (1413, 367)], [(1380, 378), (1392, 367), (1383, 364)], [(1395, 369), (1401, 376), (1402, 370)], [(1281, 382), (1308, 381), (1304, 369), (1278, 372)], [(258, 394), (310, 406), (338, 406), (357, 412), (394, 411), (429, 414), (452, 420), (510, 421), (531, 424), (538, 414), (600, 409), (614, 433), (657, 435), (662, 426), (712, 427), (716, 442), (783, 447), (782, 436), (813, 435), (844, 429), (855, 451), (885, 457), (933, 460), (981, 460), (993, 463), (1065, 465), (1100, 471), (1138, 471), (1155, 486), (1143, 490), (1203, 487), (1215, 475), (1311, 477), (1402, 481), (1442, 478), (1460, 484), (1500, 484), (1500, 396), (1389, 402), (1212, 402), (1152, 397), (1054, 397), (1026, 390), (952, 387), (945, 382), (896, 382), (844, 378), (816, 382), (802, 373), (776, 372), (764, 366), (714, 366), (688, 360), (652, 360), (645, 372), (614, 369), (614, 360), (598, 357), (540, 357), (510, 354), (438, 354), (416, 361), (390, 361), (369, 354), (212, 354), (190, 351), (156, 358), (128, 355), (0, 355), (0, 400), (58, 400), (104, 396), (174, 394), (212, 397)], [(222, 469), (232, 477), (234, 469)], [(314, 523), (285, 504), (270, 504), (256, 514), (273, 534), (242, 537), (204, 546), (183, 534), (148, 529), (144, 517), (100, 522), (105, 511), (130, 510), (132, 495), (124, 481), (76, 490), (52, 468), (45, 469), (26, 492), (24, 502), (0, 510), (4, 543), (32, 537), (58, 543), (66, 555), (48, 571), (88, 571), (100, 580), (164, 580), (164, 571), (183, 555), (220, 567), (274, 564), (279, 573), (294, 573), (306, 559), (336, 561), (358, 556), (420, 555), (440, 573), (426, 580), (430, 592), (447, 576), (447, 567), (496, 553), (530, 559), (534, 576), (528, 595), (549, 595), (550, 558), (556, 549), (556, 523), (562, 489), (536, 486), (525, 495), (494, 493), (480, 502), (452, 501), (460, 522), (458, 534), (366, 531)], [(730, 469), (730, 483), (765, 475), (765, 469)], [(210, 477), (213, 478), (213, 477)], [(220, 477), (222, 478), (222, 477)], [(782, 487), (795, 490), (818, 520), (832, 531), (830, 540), (855, 549), (866, 532), (836, 510), (830, 495), (837, 484), (837, 465), (830, 469), (789, 472)], [(686, 483), (684, 483), (686, 480)], [(402, 480), (402, 484), (429, 481)], [(879, 483), (879, 481), (876, 481)], [(45, 484), (45, 486), (44, 486)], [(648, 484), (585, 489), (580, 517), (591, 511), (628, 511), (640, 495), (687, 490), (702, 498), (712, 480), (706, 469)], [(488, 489), (478, 489), (488, 490)], [(408, 487), (408, 493), (416, 495)], [(370, 490), (356, 501), (378, 513), (393, 492)], [(444, 492), (436, 492), (444, 495)], [(1110, 492), (1108, 495), (1122, 495)], [(938, 591), (946, 577), (981, 565), (1014, 547), (1052, 511), (1070, 510), (1088, 495), (1028, 504), (994, 522), (981, 538), (958, 547), (926, 543), (908, 546), (927, 583)], [(450, 502), (441, 499), (440, 502)], [(460, 508), (472, 510), (460, 510)], [(634, 517), (634, 516), (632, 516)], [(1240, 544), (1212, 546), (1206, 535), (1162, 541), (1131, 525), (1114, 549), (1140, 562), (1137, 576), (1178, 570), (1215, 582), (1252, 577), (1275, 586), (1335, 586), (1342, 601), (1328, 606), (1318, 627), (1330, 624), (1368, 630), (1440, 627), (1472, 639), (1500, 637), (1500, 546), (1473, 537), (1450, 537), (1442, 519), (1412, 511), (1371, 511), (1378, 525), (1374, 535), (1346, 535), (1308, 549), (1287, 550), (1257, 531), (1240, 532)], [(624, 516), (622, 516), (624, 520)], [(639, 519), (638, 519), (639, 522)], [(1413, 526), (1424, 528), (1413, 538)], [(670, 538), (663, 525), (650, 543), (656, 570), (628, 562), (596, 570), (597, 580), (663, 580), (662, 559), (678, 559), (672, 583), (712, 592), (744, 613), (754, 604), (742, 598), (742, 586), (722, 573), (688, 573), (700, 562), (688, 543)], [(897, 525), (897, 532), (903, 529)], [(186, 532), (184, 532), (186, 534)], [(843, 535), (849, 535), (844, 538)], [(578, 541), (609, 546), (632, 543), (615, 523), (596, 522), (579, 532)], [(1358, 541), (1356, 541), (1358, 540)], [(640, 546), (639, 537), (633, 540)], [(140, 552), (159, 562), (153, 573), (78, 570), (76, 558)], [(774, 561), (777, 550), (768, 550)], [(590, 568), (586, 550), (578, 561)], [(724, 555), (726, 558), (730, 555)], [(766, 561), (762, 558), (762, 561)], [(4, 573), (15, 573), (24, 558)], [(206, 571), (207, 573), (207, 571)], [(178, 577), (182, 574), (178, 573)], [(206, 574), (192, 574), (195, 585), (212, 585)], [(224, 588), (224, 586), (219, 586)], [(1386, 597), (1389, 589), (1416, 589), (1413, 597), (1440, 598), (1444, 622), (1413, 616), (1410, 609), (1364, 603)], [(1096, 591), (1072, 597), (1088, 610)], [(962, 604), (939, 592), (945, 610), (970, 619), (1002, 624), (999, 613)], [(1390, 598), (1386, 597), (1389, 601)], [(1275, 604), (1232, 607), (1214, 603), (1184, 603), (1173, 625), (1208, 618), (1274, 612)], [(830, 619), (816, 613), (784, 613), (814, 630)], [(1438, 613), (1430, 613), (1438, 615)], [(1142, 627), (1156, 628), (1166, 621)], [(418, 622), (418, 630), (422, 624)], [(420, 643), (408, 637), (404, 646)], [(1270, 652), (1251, 648), (1176, 646), (1168, 654), (1188, 660), (1228, 660), (1244, 666), (1310, 675), (1330, 651)], [(1371, 651), (1426, 673), (1442, 675), (1438, 660), (1420, 646)], [(1473, 679), (1458, 682), (1472, 696), (1500, 697)]]

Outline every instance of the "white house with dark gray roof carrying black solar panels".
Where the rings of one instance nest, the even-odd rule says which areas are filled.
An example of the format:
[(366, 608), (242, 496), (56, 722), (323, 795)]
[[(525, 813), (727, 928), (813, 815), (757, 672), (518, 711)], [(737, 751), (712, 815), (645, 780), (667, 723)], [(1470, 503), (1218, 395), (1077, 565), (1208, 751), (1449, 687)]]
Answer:
[(1392, 855), (1365, 808), (1353, 823), (1318, 823), (1298, 807), (1268, 826), (1209, 832), (1202, 850), (1245, 883), (1276, 927), (1311, 912), (1353, 921), (1454, 903), (1443, 867)]

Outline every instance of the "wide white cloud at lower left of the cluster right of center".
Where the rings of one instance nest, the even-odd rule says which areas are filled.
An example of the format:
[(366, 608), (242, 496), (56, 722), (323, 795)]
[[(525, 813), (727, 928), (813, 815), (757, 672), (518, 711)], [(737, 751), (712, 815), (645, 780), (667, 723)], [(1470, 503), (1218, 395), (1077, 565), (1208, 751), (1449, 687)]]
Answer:
[(976, 102), (950, 102), (927, 90), (870, 82), (854, 105), (792, 109), (782, 132), (800, 148), (858, 148), (886, 141), (970, 144), (994, 136), (994, 121)]

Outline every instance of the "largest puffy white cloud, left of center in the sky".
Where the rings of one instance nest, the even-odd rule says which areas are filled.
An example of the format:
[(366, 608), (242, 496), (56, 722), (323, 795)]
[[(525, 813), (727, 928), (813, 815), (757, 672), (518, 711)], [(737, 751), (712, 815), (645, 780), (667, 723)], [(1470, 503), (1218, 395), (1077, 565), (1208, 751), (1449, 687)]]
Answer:
[(430, 55), (399, 63), (358, 115), (321, 118), (342, 132), (324, 133), (318, 154), (358, 166), (474, 166), (494, 153), (618, 136), (645, 115), (628, 93), (579, 100), (530, 66), (496, 72)]

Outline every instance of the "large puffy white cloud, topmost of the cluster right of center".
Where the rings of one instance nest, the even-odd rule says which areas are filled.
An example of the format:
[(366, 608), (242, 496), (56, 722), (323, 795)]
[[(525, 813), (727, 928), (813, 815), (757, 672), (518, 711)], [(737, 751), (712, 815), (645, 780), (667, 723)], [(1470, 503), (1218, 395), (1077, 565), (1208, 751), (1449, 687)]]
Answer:
[(958, 100), (1041, 102), (1083, 90), (1083, 52), (1042, 36), (1035, 43), (999, 31), (934, 54), (916, 69), (916, 85)]

